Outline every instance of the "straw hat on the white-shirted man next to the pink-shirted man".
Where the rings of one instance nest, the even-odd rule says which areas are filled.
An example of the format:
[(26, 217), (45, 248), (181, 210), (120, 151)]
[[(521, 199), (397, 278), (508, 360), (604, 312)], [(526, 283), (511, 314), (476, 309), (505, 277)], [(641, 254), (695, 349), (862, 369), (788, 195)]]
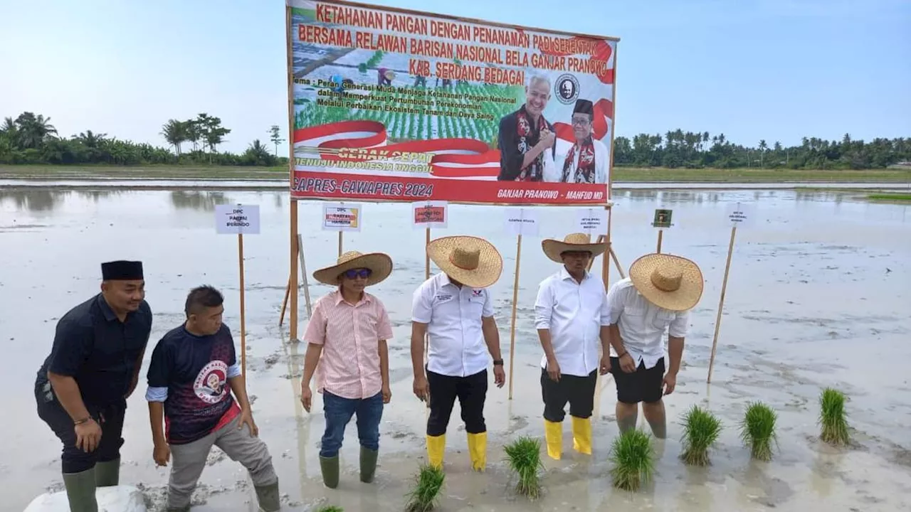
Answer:
[(503, 257), (494, 244), (477, 237), (438, 238), (427, 245), (427, 255), (446, 275), (471, 288), (490, 286), (503, 271)]

